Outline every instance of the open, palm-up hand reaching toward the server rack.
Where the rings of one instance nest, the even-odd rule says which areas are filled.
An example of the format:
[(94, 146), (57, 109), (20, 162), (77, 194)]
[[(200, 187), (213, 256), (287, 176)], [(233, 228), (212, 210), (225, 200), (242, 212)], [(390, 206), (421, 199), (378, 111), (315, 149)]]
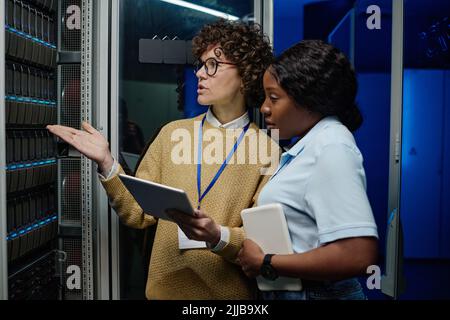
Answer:
[(83, 122), (81, 126), (84, 131), (60, 125), (48, 125), (47, 129), (96, 162), (102, 173), (109, 172), (114, 159), (109, 151), (108, 141), (89, 123)]

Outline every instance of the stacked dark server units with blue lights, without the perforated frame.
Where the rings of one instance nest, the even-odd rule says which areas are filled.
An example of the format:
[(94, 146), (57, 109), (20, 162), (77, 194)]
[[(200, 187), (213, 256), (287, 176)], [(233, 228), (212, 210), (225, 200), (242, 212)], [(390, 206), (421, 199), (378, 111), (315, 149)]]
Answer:
[(56, 299), (59, 292), (57, 150), (45, 129), (57, 117), (56, 5), (2, 3), (2, 293), (11, 300)]

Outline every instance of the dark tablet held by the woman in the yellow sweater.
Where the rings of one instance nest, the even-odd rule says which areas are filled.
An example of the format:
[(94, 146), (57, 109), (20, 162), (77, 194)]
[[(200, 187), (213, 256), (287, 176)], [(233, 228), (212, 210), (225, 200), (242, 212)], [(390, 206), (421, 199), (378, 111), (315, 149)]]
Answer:
[(119, 178), (146, 214), (170, 221), (172, 219), (166, 214), (168, 209), (177, 209), (187, 214), (194, 214), (194, 209), (186, 192), (181, 189), (125, 174), (120, 174)]

